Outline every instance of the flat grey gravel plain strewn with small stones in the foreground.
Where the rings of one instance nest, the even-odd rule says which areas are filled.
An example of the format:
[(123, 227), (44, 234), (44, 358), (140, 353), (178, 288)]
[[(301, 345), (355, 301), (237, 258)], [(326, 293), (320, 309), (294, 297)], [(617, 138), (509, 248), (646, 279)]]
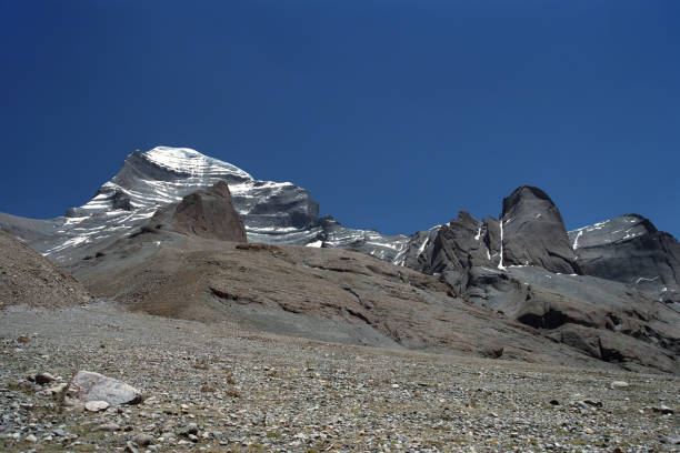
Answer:
[[(82, 412), (27, 379), (77, 370), (146, 400)], [(103, 302), (0, 312), (8, 452), (671, 452), (679, 391), (670, 375), (258, 335)]]

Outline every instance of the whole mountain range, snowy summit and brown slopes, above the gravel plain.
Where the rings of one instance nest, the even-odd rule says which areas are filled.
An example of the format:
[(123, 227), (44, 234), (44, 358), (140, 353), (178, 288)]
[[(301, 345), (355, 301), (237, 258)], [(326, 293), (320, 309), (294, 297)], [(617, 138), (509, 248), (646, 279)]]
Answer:
[[(2, 214), (0, 225), (94, 295), (148, 313), (357, 344), (680, 371), (680, 244), (639, 215), (568, 233), (533, 187), (507, 197), (498, 220), (461, 212), (387, 236), (319, 218), (291, 183), (159, 147), (128, 157), (64, 218)], [(232, 243), (247, 240), (264, 243)]]

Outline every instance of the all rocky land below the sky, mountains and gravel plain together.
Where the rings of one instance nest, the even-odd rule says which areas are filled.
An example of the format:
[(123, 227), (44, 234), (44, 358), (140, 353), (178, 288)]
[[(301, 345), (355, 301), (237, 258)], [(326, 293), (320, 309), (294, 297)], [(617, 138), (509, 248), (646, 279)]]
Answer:
[(3, 451), (680, 450), (680, 246), (639, 215), (520, 187), (387, 236), (157, 148), (0, 225)]

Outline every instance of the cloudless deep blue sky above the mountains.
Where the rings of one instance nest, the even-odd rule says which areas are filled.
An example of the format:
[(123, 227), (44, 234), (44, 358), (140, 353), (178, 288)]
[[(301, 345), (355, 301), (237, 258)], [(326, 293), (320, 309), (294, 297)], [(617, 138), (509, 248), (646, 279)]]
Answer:
[(427, 229), (546, 190), (680, 238), (680, 2), (0, 0), (0, 211), (80, 205), (136, 149)]

